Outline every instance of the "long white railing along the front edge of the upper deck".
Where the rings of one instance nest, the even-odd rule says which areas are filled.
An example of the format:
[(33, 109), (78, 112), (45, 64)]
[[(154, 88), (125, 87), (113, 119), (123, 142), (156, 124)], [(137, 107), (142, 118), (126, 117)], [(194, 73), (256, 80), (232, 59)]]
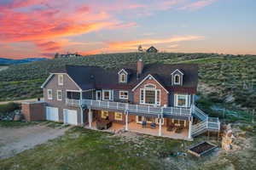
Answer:
[(98, 108), (106, 108), (113, 110), (123, 110), (128, 112), (138, 112), (146, 114), (160, 115), (172, 115), (172, 116), (191, 116), (191, 108), (177, 108), (177, 107), (160, 107), (151, 105), (131, 105), (127, 103), (119, 103), (112, 101), (83, 99), (84, 105), (90, 105)]

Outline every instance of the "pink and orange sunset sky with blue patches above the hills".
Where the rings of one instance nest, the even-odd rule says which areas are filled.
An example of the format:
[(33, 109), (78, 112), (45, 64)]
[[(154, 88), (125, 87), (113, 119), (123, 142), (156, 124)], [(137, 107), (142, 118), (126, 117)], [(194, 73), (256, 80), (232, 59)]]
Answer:
[(255, 0), (0, 0), (0, 57), (256, 54)]

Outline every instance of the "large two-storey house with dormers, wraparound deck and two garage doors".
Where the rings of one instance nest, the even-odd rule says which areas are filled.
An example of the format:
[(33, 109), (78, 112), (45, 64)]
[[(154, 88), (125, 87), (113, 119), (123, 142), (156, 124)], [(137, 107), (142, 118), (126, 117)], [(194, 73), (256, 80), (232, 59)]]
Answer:
[(66, 65), (42, 85), (45, 116), (90, 129), (108, 128), (191, 140), (218, 132), (218, 118), (195, 106), (198, 67), (193, 64)]

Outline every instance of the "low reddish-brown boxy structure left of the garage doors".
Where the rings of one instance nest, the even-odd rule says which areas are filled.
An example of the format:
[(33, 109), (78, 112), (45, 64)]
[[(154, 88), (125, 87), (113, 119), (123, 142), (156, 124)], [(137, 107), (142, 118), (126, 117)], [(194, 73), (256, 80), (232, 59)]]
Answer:
[(23, 102), (21, 103), (21, 113), (26, 121), (44, 121), (45, 120), (45, 102)]

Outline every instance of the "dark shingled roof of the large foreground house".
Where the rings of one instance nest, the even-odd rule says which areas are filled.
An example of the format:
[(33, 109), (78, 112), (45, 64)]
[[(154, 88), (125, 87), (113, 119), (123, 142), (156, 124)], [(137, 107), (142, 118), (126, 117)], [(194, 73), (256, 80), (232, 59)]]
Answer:
[[(128, 82), (119, 83), (118, 72), (124, 69), (128, 72)], [(183, 85), (172, 85), (172, 72), (183, 71)], [(144, 65), (143, 73), (137, 77), (137, 65), (122, 65), (117, 69), (104, 70), (97, 66), (66, 65), (62, 69), (56, 69), (52, 73), (67, 73), (82, 90), (109, 88), (132, 89), (143, 81), (149, 74), (168, 91), (195, 94), (198, 83), (198, 66), (195, 64), (148, 64)]]

